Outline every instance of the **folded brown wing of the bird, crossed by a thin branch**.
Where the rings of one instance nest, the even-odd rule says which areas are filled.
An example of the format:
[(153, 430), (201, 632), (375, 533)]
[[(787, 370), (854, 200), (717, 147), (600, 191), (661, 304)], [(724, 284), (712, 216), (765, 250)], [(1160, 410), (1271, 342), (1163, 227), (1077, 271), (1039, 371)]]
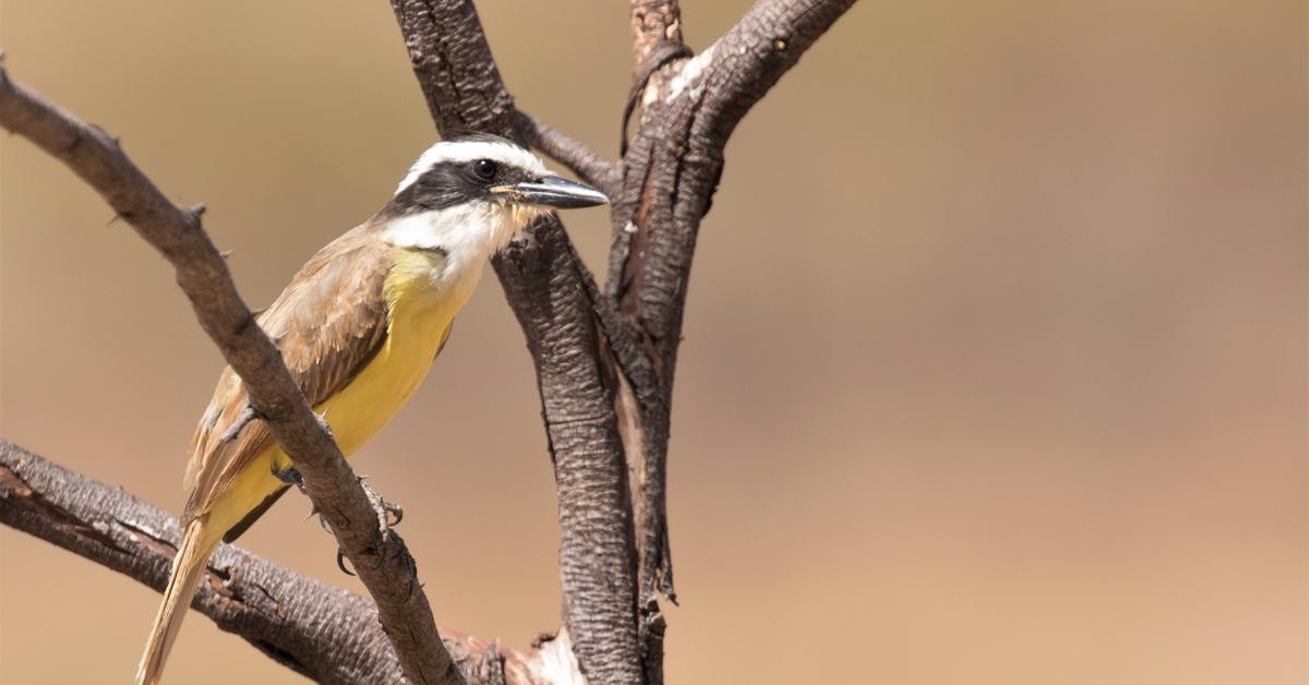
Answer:
[[(310, 406), (344, 388), (386, 341), (384, 284), (393, 248), (370, 240), (368, 231), (367, 225), (356, 228), (319, 250), (258, 320)], [(224, 369), (191, 439), (183, 520), (204, 512), (274, 444), (267, 424), (258, 419), (223, 440), (247, 401), (241, 379)]]

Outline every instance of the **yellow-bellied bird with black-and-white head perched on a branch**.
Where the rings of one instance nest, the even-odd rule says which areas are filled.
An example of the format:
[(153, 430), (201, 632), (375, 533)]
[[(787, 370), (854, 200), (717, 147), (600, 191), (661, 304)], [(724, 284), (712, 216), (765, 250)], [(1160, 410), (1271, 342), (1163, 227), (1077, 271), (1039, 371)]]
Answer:
[[(505, 139), (437, 143), (381, 211), (305, 263), (259, 326), (350, 454), (418, 389), (491, 254), (543, 212), (606, 202)], [(297, 475), (250, 411), (241, 379), (224, 369), (191, 437), (182, 544), (137, 684), (158, 682), (219, 541), (245, 532)]]

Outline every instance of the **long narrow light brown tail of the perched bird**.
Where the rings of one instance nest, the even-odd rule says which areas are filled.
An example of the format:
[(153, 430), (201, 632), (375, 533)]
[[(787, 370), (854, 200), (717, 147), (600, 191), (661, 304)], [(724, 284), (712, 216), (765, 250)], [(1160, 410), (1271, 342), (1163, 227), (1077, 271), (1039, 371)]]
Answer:
[(178, 629), (182, 627), (182, 618), (186, 618), (186, 610), (191, 606), (195, 588), (204, 576), (206, 562), (216, 546), (219, 536), (206, 529), (204, 516), (186, 525), (182, 546), (178, 547), (177, 557), (173, 557), (173, 575), (169, 576), (168, 588), (164, 589), (164, 602), (160, 604), (160, 613), (154, 617), (154, 627), (151, 629), (151, 639), (145, 643), (141, 664), (136, 667), (136, 685), (156, 685), (164, 675), (164, 661), (173, 648)]

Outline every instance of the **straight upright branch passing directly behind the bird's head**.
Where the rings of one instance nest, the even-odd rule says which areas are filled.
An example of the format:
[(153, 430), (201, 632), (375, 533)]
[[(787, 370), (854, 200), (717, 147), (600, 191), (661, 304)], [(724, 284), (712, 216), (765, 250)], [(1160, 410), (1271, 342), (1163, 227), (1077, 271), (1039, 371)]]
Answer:
[[(473, 3), (391, 0), (391, 8), (441, 134), (483, 131), (524, 141)], [(537, 368), (559, 490), (564, 627), (592, 682), (639, 684), (627, 462), (585, 266), (554, 216), (492, 263)]]

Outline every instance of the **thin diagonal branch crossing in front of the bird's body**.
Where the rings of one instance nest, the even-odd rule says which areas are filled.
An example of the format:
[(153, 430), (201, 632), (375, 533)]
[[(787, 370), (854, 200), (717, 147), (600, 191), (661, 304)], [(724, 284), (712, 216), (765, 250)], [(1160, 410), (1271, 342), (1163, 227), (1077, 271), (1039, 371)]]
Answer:
[(173, 265), (200, 326), (249, 388), (315, 509), (377, 601), (404, 675), (414, 682), (462, 682), (441, 646), (414, 558), (399, 536), (380, 528), (357, 477), (241, 300), (226, 263), (200, 228), (203, 208), (173, 206), (117, 140), (10, 81), (3, 68), (0, 126), (68, 165)]

